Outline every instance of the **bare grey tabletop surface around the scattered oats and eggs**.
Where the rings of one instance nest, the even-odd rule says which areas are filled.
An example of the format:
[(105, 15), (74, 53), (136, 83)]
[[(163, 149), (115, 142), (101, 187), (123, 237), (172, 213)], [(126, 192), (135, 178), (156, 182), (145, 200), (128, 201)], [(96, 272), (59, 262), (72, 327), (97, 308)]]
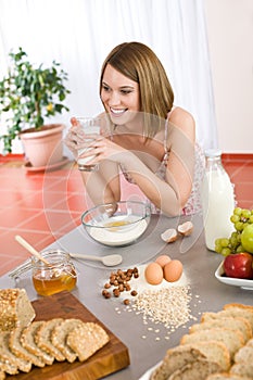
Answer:
[[(186, 220), (192, 220), (194, 225), (190, 237), (179, 238), (170, 244), (162, 241), (161, 233), (165, 229), (176, 228), (178, 224)], [(169, 339), (165, 339), (167, 330), (163, 325), (150, 321), (147, 326), (143, 324), (142, 315), (138, 315), (131, 307), (126, 308), (119, 299), (105, 300), (101, 295), (102, 286), (113, 268), (106, 268), (97, 262), (74, 261), (78, 270), (78, 283), (73, 294), (129, 350), (129, 367), (106, 377), (110, 380), (139, 379), (164, 357), (166, 350), (179, 343), (180, 338), (188, 332), (189, 326), (200, 320), (202, 313), (217, 312), (227, 303), (253, 305), (252, 290), (227, 286), (215, 278), (215, 270), (223, 257), (205, 248), (202, 217), (199, 215), (180, 219), (152, 216), (150, 226), (141, 240), (124, 248), (100, 245), (91, 241), (80, 226), (48, 246), (48, 249), (55, 248), (100, 256), (119, 253), (123, 256), (122, 269), (134, 266), (143, 267), (143, 264), (160, 254), (168, 254), (172, 258), (178, 258), (184, 265), (184, 278), (187, 279), (191, 292), (191, 315), (195, 319), (189, 320), (186, 326), (170, 333)], [(1, 288), (14, 286), (14, 281), (8, 275), (0, 278)], [(37, 299), (29, 273), (21, 278), (18, 287), (26, 289), (30, 300)]]

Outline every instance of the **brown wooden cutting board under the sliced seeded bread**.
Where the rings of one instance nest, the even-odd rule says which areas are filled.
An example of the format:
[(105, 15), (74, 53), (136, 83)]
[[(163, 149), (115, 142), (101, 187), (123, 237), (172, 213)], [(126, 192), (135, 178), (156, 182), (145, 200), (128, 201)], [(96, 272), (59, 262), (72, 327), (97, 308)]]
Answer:
[(34, 301), (36, 320), (52, 318), (79, 318), (84, 321), (98, 322), (110, 337), (110, 342), (88, 360), (80, 363), (54, 362), (45, 368), (33, 367), (28, 373), (8, 376), (13, 380), (96, 380), (127, 367), (128, 349), (98, 318), (91, 314), (72, 293), (64, 291)]

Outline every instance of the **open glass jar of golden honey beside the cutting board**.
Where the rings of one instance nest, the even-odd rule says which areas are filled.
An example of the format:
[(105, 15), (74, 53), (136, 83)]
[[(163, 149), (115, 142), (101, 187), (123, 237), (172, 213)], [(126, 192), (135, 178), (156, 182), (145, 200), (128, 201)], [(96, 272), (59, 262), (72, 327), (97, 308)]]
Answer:
[(31, 258), (33, 283), (39, 295), (51, 295), (76, 287), (77, 273), (67, 252), (53, 250), (42, 252), (41, 255), (49, 263), (37, 257)]

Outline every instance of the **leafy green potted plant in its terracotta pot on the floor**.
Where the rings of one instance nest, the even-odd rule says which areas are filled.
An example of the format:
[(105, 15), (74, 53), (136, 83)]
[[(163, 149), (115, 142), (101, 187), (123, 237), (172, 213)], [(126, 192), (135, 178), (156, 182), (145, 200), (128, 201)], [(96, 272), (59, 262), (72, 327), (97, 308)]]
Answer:
[[(45, 118), (69, 111), (63, 104), (71, 92), (64, 85), (67, 74), (53, 61), (51, 67), (33, 65), (25, 51), (10, 52), (8, 75), (0, 80), (0, 116), (5, 114), (0, 136), (4, 153), (12, 152), (12, 142), (18, 136), (26, 157), (35, 167), (62, 160), (62, 124), (45, 125)], [(36, 138), (36, 140), (34, 140)], [(39, 139), (37, 141), (37, 139)], [(46, 142), (43, 142), (46, 139)], [(42, 144), (43, 156), (39, 157)], [(29, 147), (30, 145), (30, 147)], [(35, 153), (35, 155), (34, 155)]]

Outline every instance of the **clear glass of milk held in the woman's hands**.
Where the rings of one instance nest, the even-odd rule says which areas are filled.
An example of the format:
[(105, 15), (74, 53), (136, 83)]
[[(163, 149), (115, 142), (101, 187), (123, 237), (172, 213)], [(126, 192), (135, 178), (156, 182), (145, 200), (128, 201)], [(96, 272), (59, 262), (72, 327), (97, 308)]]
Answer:
[[(97, 117), (76, 117), (79, 126), (81, 128), (81, 134), (79, 137), (84, 138), (87, 142), (91, 142), (93, 139), (89, 138), (88, 135), (99, 135), (100, 134), (100, 119)], [(86, 136), (87, 135), (87, 136)], [(93, 172), (98, 169), (98, 165), (90, 165), (89, 162), (93, 160), (93, 155), (89, 157), (80, 157), (80, 155), (90, 150), (90, 148), (81, 148), (77, 151), (77, 164), (79, 170)]]

